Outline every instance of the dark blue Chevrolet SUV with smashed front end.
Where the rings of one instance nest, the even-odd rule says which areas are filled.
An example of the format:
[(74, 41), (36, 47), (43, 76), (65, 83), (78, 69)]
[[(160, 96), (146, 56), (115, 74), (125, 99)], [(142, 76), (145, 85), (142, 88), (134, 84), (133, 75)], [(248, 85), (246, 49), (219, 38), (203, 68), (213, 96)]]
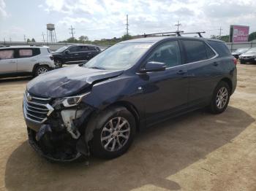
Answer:
[(123, 155), (138, 130), (207, 106), (225, 111), (236, 58), (224, 42), (149, 37), (32, 79), (23, 99), (29, 143), (48, 160)]

